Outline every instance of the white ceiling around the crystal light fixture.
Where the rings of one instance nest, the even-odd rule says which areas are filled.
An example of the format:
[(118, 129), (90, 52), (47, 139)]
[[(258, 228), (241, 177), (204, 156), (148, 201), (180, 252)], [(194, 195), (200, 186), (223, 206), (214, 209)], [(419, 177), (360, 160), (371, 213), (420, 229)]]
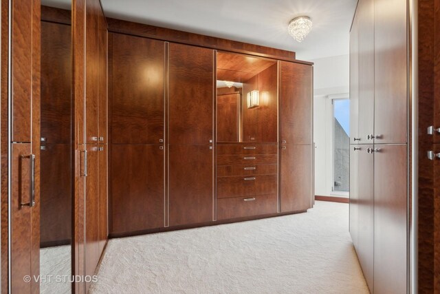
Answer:
[[(296, 52), (309, 60), (349, 54), (358, 0), (101, 0), (107, 17)], [(287, 33), (294, 17), (313, 28), (303, 43)]]

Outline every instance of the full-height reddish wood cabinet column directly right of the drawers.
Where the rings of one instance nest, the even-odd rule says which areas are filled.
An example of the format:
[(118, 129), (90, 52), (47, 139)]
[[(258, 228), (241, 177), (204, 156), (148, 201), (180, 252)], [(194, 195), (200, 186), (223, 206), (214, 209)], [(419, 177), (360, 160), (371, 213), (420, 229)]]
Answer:
[(313, 199), (312, 67), (285, 61), (279, 67), (281, 212), (301, 211)]

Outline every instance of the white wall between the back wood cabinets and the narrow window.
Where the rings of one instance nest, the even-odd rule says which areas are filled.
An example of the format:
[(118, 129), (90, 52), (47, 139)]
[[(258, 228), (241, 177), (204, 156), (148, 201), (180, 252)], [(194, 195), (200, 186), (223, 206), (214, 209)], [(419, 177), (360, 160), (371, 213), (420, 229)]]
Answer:
[(349, 55), (312, 60), (314, 62), (314, 143), (315, 195), (346, 196), (333, 187), (333, 107), (331, 97), (347, 98), (349, 93)]

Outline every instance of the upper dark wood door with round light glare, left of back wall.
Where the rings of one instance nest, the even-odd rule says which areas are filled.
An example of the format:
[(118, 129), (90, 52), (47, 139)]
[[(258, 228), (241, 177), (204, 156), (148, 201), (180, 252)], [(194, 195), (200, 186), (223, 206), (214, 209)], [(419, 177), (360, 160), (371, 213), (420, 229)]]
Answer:
[(164, 139), (164, 42), (112, 38), (112, 143), (157, 144)]

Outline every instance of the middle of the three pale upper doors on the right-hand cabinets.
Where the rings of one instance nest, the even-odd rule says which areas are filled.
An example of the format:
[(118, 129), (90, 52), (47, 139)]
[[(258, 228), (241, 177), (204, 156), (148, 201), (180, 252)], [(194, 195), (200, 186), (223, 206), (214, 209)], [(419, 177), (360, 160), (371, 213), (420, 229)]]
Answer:
[[(374, 1), (361, 0), (358, 7), (359, 72), (358, 72), (358, 140), (360, 144), (373, 143), (374, 134)], [(355, 65), (353, 65), (355, 66)]]

